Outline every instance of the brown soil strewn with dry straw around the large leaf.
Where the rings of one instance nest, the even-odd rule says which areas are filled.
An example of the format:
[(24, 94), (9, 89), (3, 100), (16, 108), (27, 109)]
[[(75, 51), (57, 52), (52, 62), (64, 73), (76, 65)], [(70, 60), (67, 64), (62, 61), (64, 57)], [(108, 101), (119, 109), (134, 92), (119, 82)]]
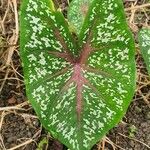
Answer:
[[(67, 0), (58, 2), (66, 11)], [(35, 150), (42, 139), (47, 141), (43, 150), (66, 150), (41, 127), (27, 102), (19, 57), (19, 6), (20, 0), (0, 0), (0, 150)], [(124, 6), (136, 41), (136, 94), (120, 124), (93, 150), (150, 149), (150, 78), (137, 40), (139, 29), (150, 26), (150, 1), (124, 0)]]

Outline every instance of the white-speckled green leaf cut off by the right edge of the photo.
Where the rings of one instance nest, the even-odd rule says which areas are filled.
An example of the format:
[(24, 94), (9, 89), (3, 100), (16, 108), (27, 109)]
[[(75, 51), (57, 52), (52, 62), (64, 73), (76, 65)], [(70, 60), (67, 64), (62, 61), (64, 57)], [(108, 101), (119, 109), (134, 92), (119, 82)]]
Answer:
[(150, 74), (150, 29), (145, 28), (139, 32), (139, 45), (148, 73)]

